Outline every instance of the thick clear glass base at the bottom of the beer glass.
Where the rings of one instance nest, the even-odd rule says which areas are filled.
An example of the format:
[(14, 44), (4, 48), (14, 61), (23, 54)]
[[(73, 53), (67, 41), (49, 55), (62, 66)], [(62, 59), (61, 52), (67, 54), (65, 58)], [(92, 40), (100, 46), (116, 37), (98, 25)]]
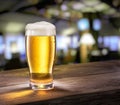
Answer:
[(53, 83), (40, 84), (40, 83), (30, 83), (33, 90), (51, 90), (54, 88)]

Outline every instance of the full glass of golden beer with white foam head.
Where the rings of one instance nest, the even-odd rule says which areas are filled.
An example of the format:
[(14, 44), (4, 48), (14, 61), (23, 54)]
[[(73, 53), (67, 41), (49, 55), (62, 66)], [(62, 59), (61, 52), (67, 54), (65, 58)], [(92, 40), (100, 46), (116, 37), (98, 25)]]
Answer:
[(34, 90), (53, 89), (55, 26), (45, 21), (30, 23), (26, 25), (25, 36), (30, 86)]

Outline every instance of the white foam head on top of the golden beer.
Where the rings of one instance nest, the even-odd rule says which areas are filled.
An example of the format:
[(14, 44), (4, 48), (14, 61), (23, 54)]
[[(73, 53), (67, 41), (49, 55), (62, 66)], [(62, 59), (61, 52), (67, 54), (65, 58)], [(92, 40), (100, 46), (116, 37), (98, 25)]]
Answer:
[(30, 23), (26, 25), (25, 35), (27, 36), (52, 36), (56, 35), (56, 28), (53, 24), (45, 21)]

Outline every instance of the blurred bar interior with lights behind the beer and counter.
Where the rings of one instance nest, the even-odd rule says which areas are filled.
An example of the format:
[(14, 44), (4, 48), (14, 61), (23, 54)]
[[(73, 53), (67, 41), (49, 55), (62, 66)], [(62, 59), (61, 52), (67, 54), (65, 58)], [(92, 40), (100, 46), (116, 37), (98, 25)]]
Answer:
[(25, 25), (57, 29), (56, 65), (120, 59), (120, 0), (0, 0), (0, 70), (27, 67)]

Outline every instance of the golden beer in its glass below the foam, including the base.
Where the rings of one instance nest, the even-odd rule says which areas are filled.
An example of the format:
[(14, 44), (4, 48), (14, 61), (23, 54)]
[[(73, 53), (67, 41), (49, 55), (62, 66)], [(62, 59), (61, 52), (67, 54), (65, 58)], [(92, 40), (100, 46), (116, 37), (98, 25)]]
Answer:
[(55, 35), (41, 35), (41, 33), (39, 35), (26, 35), (26, 54), (32, 89), (46, 90), (53, 88), (52, 72), (55, 44)]

